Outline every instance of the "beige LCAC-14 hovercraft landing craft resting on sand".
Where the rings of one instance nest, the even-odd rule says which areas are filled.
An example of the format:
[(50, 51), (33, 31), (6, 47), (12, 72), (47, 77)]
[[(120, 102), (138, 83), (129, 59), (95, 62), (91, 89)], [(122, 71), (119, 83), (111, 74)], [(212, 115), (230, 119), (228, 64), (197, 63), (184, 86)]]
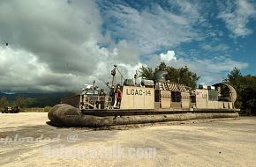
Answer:
[(87, 85), (79, 95), (63, 98), (48, 114), (52, 125), (63, 127), (110, 127), (155, 122), (238, 118), (237, 93), (230, 84), (200, 85), (192, 90), (166, 80), (160, 71), (154, 80), (137, 84), (124, 79), (116, 84), (117, 66), (111, 71), (112, 85), (105, 93)]

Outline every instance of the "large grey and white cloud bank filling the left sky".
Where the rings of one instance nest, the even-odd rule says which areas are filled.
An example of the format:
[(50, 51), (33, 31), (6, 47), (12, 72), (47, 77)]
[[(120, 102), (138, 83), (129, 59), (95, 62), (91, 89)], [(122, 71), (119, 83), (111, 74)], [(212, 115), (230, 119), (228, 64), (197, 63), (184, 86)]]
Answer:
[(111, 39), (91, 0), (0, 1), (0, 25), (0, 41), (10, 44), (0, 47), (0, 91), (76, 91), (95, 78), (110, 80), (113, 64), (139, 62), (126, 40), (99, 46)]

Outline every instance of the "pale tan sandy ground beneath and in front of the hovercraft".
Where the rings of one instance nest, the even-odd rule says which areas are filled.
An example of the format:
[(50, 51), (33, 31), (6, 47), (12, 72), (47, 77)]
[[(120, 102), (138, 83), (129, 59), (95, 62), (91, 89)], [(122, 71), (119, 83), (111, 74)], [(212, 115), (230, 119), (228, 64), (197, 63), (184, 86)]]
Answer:
[(256, 118), (124, 130), (0, 114), (0, 166), (256, 166)]

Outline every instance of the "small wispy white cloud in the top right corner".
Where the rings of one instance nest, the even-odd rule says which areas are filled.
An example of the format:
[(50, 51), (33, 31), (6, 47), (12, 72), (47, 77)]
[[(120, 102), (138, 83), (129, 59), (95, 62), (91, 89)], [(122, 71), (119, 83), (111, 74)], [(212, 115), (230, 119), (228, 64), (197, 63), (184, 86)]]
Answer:
[(221, 12), (218, 18), (222, 18), (233, 37), (245, 37), (252, 33), (247, 24), (251, 18), (256, 18), (256, 10), (247, 0), (226, 1), (226, 5), (220, 4)]

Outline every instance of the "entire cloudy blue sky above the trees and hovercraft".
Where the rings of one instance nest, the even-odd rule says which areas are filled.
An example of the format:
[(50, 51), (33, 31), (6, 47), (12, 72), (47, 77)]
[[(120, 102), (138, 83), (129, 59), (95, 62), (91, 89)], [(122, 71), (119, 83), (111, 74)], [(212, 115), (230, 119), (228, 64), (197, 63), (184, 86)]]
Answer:
[(0, 1), (0, 91), (80, 91), (160, 62), (211, 85), (255, 76), (255, 51), (255, 0)]

